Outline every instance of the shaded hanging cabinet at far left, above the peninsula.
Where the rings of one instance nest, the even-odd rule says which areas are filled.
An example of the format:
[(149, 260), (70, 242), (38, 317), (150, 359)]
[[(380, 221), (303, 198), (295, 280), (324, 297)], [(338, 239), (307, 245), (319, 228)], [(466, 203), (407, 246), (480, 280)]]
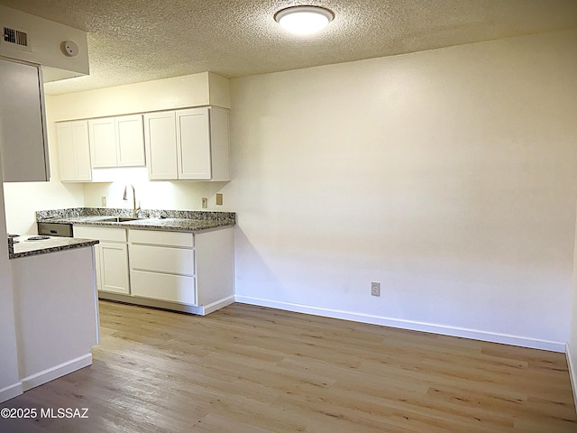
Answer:
[(0, 149), (5, 182), (50, 179), (41, 69), (0, 60)]

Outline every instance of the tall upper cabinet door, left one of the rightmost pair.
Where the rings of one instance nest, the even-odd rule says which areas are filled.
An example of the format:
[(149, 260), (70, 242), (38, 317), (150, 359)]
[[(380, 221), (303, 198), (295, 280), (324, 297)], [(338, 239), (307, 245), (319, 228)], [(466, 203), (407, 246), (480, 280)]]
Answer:
[(144, 115), (144, 143), (149, 179), (178, 179), (177, 126), (174, 111)]

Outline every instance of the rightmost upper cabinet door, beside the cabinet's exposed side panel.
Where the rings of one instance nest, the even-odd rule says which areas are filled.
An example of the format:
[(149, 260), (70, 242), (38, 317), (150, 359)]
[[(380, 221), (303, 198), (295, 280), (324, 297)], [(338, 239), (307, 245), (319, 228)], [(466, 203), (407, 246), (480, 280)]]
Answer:
[(210, 180), (210, 124), (208, 107), (177, 111), (179, 179)]

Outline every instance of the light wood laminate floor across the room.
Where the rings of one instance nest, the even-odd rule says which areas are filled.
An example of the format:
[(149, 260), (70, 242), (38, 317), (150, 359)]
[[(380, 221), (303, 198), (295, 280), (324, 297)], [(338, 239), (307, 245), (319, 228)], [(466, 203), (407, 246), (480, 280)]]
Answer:
[(577, 431), (563, 354), (234, 304), (204, 318), (100, 303), (94, 364), (8, 408), (12, 432)]

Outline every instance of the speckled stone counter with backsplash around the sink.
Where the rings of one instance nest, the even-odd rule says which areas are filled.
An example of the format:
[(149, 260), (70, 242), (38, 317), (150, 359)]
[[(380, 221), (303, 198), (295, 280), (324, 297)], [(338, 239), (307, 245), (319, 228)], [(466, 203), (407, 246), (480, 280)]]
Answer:
[(113, 217), (133, 217), (133, 210), (110, 207), (74, 207), (36, 212), (36, 221), (45, 223), (179, 232), (200, 232), (236, 224), (236, 214), (234, 212), (142, 209), (138, 211), (136, 216), (140, 219), (133, 221), (117, 222), (108, 220)]

